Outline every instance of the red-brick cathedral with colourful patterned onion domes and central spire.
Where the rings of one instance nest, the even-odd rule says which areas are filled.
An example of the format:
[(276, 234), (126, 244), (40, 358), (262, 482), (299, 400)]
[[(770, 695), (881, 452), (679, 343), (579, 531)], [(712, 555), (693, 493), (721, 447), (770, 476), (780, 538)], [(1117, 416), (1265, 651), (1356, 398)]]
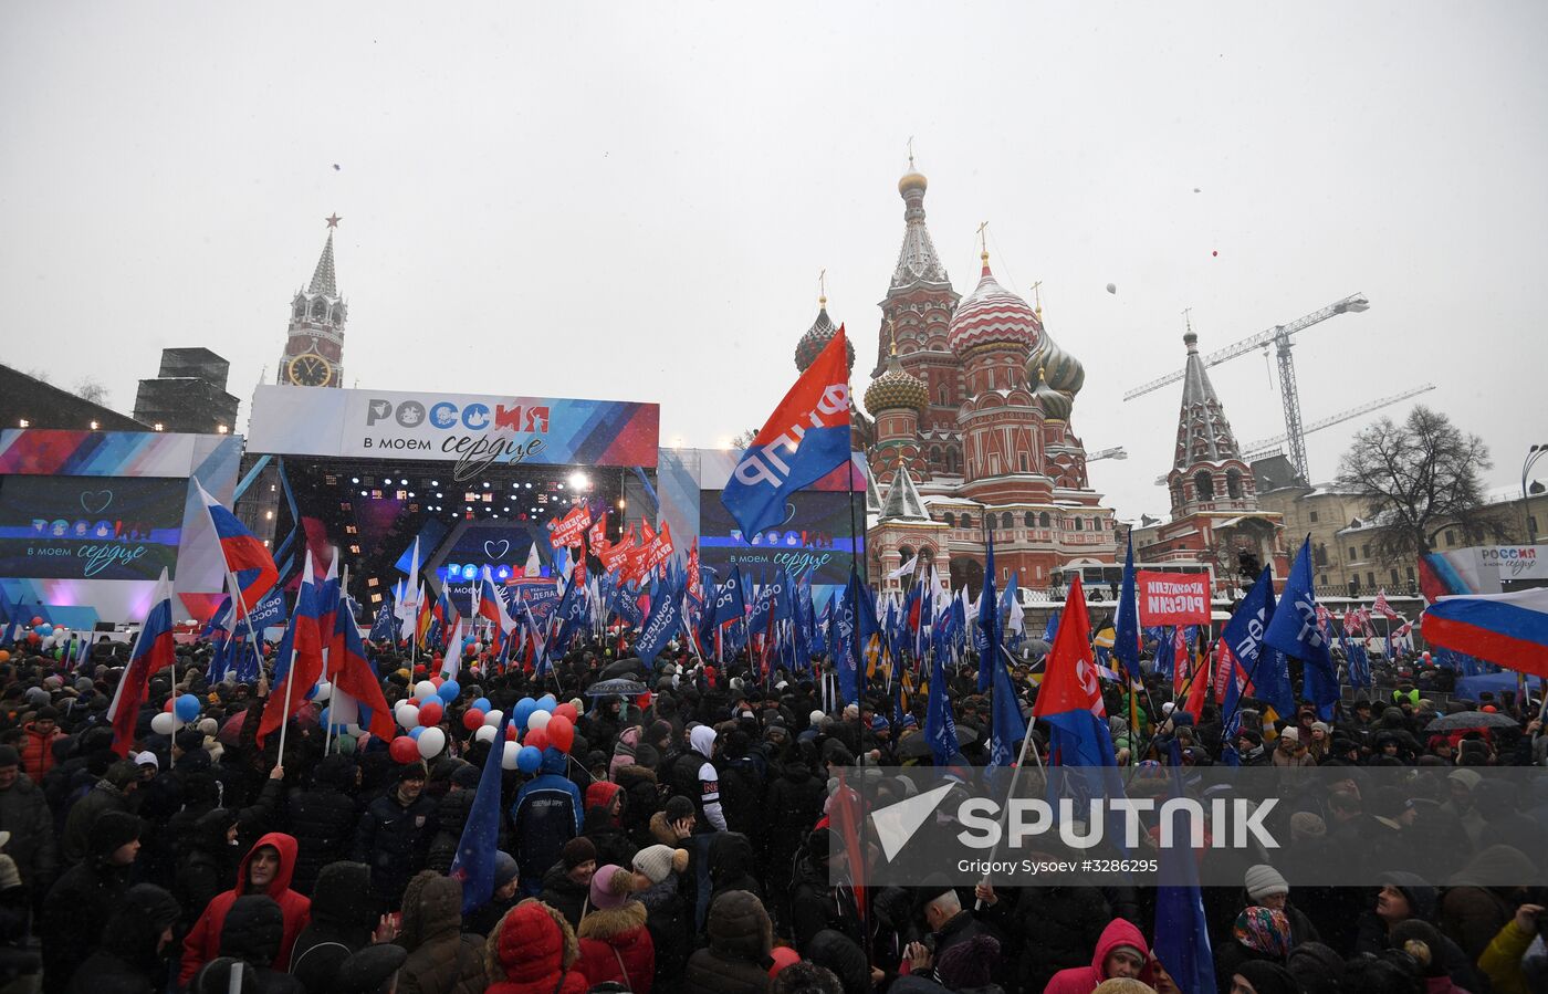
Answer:
[[(1060, 570), (1118, 559), (1113, 511), (1087, 478), (1071, 412), (1085, 368), (1043, 327), (1042, 308), (1005, 290), (983, 254), (978, 285), (954, 288), (924, 223), (926, 178), (898, 181), (902, 248), (881, 302), (868, 418), (854, 412), (867, 488), (870, 579), (920, 557), (950, 585), (983, 587), (994, 534), (997, 585), (1046, 590)], [(827, 300), (796, 345), (805, 370), (837, 327)], [(853, 372), (854, 351), (850, 348)]]

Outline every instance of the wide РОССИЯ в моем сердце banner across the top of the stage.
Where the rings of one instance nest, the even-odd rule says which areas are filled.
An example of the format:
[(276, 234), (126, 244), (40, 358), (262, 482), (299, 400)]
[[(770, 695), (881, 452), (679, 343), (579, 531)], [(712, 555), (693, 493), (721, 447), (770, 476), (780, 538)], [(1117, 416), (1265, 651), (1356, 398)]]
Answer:
[(262, 386), (248, 451), (494, 464), (655, 468), (661, 407), (641, 401)]

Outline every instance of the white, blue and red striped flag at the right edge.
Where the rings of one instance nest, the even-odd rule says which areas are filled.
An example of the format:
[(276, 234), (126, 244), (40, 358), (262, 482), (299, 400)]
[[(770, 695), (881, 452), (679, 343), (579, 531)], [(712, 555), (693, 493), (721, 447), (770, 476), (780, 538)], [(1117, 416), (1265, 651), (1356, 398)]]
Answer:
[(1548, 677), (1548, 587), (1441, 598), (1420, 630), (1432, 646)]

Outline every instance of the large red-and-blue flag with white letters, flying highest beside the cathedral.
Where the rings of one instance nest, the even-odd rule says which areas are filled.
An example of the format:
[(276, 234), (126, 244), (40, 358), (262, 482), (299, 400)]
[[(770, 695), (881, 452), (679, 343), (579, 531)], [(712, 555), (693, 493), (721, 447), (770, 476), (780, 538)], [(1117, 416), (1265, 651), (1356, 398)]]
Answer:
[(741, 534), (779, 526), (791, 494), (850, 461), (847, 348), (841, 327), (731, 471), (720, 502)]

